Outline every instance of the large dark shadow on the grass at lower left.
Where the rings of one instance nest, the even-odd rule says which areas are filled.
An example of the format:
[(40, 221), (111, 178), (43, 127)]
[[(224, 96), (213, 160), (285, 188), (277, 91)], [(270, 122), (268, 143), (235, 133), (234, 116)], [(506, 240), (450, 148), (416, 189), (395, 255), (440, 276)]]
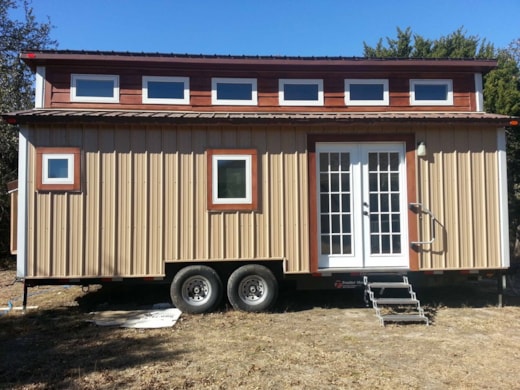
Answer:
[[(121, 291), (86, 294), (77, 307), (29, 311), (0, 317), (0, 388), (38, 384), (42, 388), (70, 388), (90, 373), (118, 371), (179, 359), (186, 351), (165, 343), (171, 329), (121, 329), (86, 322), (91, 308), (107, 298), (136, 307), (148, 294)], [(123, 299), (126, 297), (126, 299)], [(112, 299), (111, 299), (112, 300)], [(111, 309), (114, 305), (111, 303)], [(118, 383), (118, 386), (125, 385)], [(128, 383), (131, 387), (132, 384)]]

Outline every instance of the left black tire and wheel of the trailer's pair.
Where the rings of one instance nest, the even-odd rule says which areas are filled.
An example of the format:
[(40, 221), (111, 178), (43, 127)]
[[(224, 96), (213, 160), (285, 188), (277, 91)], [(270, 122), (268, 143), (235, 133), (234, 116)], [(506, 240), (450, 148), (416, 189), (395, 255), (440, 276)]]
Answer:
[(183, 312), (201, 314), (215, 310), (222, 300), (222, 290), (222, 281), (213, 268), (190, 265), (173, 278), (170, 296)]

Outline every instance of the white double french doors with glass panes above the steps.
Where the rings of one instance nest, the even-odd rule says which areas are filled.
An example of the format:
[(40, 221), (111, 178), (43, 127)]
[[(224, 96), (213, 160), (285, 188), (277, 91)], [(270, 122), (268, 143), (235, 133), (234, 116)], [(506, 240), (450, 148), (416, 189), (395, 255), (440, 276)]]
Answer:
[(408, 268), (404, 143), (317, 143), (318, 267)]

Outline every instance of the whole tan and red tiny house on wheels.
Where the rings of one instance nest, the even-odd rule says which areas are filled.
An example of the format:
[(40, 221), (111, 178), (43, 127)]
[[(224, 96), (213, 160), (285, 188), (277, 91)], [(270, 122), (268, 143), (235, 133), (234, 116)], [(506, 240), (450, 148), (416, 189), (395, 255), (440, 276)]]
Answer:
[[(509, 267), (493, 60), (24, 52), (18, 277), (168, 282), (184, 311), (278, 283)], [(13, 194), (12, 194), (13, 195)], [(25, 294), (26, 295), (26, 294)]]

